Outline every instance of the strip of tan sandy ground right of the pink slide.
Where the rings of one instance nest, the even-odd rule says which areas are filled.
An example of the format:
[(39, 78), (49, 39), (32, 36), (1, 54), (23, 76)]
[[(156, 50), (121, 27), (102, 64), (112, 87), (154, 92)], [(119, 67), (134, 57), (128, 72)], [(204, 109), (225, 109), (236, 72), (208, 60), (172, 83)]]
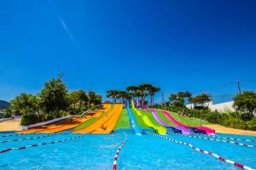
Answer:
[(236, 128), (223, 127), (220, 125), (207, 125), (206, 127), (210, 127), (214, 129), (216, 133), (230, 133), (230, 134), (256, 136), (256, 131), (241, 130)]

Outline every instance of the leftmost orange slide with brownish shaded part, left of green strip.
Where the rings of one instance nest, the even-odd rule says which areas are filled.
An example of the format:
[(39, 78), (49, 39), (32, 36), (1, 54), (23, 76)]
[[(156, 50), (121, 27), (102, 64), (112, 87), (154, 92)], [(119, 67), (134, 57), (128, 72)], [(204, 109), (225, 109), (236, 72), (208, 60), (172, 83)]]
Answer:
[(57, 132), (61, 132), (61, 131), (67, 130), (67, 129), (71, 129), (73, 127), (77, 127), (77, 126), (79, 126), (79, 124), (81, 124), (85, 121), (88, 121), (93, 117), (102, 115), (102, 113), (104, 113), (105, 111), (108, 111), (110, 109), (110, 107), (111, 107), (110, 104), (103, 104), (103, 108), (99, 111), (96, 111), (96, 114), (94, 114), (93, 116), (85, 116), (84, 118), (83, 117), (73, 117), (73, 118), (63, 120), (61, 122), (50, 124), (48, 126), (36, 127), (36, 128), (21, 131), (19, 133), (57, 133)]

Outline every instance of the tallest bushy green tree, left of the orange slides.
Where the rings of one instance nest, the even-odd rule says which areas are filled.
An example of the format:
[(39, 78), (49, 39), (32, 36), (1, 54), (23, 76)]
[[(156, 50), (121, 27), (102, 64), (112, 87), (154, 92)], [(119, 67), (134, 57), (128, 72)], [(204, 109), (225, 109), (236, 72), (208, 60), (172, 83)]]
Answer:
[(49, 82), (45, 82), (39, 96), (42, 108), (49, 114), (49, 118), (59, 117), (61, 116), (61, 111), (67, 110), (67, 87), (60, 78), (53, 78)]

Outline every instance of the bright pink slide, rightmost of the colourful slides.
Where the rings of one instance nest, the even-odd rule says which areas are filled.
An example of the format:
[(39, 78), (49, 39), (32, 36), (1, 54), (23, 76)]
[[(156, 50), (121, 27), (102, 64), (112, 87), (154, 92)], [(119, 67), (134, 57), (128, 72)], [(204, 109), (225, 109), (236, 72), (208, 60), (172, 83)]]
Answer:
[(191, 128), (191, 129), (194, 129), (195, 131), (197, 132), (203, 132), (203, 133), (207, 133), (207, 134), (214, 134), (215, 133), (215, 130), (211, 129), (211, 128), (208, 128), (208, 127), (192, 127), (192, 126), (188, 126), (188, 125), (185, 125), (181, 122), (177, 122), (167, 111), (162, 111), (162, 113), (168, 117), (168, 119), (170, 121), (172, 121), (174, 124), (177, 124), (177, 126), (179, 127), (185, 127), (185, 128)]

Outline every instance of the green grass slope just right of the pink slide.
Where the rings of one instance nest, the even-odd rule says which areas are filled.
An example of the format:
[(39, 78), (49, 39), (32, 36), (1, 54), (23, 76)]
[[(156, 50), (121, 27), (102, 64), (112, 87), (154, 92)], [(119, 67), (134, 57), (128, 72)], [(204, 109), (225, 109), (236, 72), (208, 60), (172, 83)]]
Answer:
[[(157, 110), (158, 112), (160, 112), (160, 110)], [(209, 124), (207, 121), (204, 121), (199, 118), (195, 118), (195, 117), (187, 117), (187, 116), (179, 116), (177, 113), (172, 112), (172, 111), (167, 111), (175, 120), (177, 120), (177, 122), (181, 122), (185, 125), (189, 125), (189, 126), (201, 126), (202, 125), (207, 125)]]

